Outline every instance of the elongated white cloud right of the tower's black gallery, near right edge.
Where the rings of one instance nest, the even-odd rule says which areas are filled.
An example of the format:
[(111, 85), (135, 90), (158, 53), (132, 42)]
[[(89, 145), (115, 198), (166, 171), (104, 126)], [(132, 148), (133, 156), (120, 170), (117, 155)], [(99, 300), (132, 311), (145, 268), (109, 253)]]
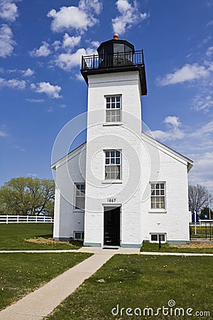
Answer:
[(183, 83), (185, 81), (193, 81), (200, 78), (206, 78), (209, 75), (209, 70), (203, 65), (194, 63), (192, 65), (186, 64), (182, 68), (175, 70), (173, 73), (168, 73), (165, 78), (158, 78), (158, 85), (174, 85), (176, 83)]

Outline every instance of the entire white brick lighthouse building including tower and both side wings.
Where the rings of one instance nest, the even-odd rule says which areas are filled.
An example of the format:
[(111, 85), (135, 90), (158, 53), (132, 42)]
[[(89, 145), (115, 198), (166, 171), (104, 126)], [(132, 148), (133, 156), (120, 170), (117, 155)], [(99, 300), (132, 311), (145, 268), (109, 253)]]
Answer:
[(87, 142), (52, 165), (53, 237), (95, 247), (141, 247), (143, 240), (159, 239), (185, 244), (190, 240), (187, 172), (192, 161), (142, 128), (143, 50), (115, 34), (97, 52), (82, 57)]

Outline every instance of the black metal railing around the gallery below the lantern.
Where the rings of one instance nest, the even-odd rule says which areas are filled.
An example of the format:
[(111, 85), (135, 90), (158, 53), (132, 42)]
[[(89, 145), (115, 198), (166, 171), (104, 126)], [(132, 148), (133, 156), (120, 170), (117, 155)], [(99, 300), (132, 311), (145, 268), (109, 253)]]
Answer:
[(143, 50), (82, 56), (82, 70), (143, 65)]

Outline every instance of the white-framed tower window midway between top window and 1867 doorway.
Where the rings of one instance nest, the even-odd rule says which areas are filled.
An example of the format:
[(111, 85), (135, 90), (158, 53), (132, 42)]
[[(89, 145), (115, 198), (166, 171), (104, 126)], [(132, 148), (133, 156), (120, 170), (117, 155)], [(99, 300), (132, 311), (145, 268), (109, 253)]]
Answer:
[(121, 151), (119, 150), (105, 151), (105, 179), (106, 180), (121, 179)]

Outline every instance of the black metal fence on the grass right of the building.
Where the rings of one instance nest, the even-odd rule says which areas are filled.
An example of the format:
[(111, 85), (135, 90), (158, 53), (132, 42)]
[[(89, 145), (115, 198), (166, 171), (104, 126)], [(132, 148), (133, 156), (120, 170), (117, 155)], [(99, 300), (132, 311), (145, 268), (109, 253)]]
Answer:
[(213, 240), (213, 223), (190, 223), (190, 239)]

